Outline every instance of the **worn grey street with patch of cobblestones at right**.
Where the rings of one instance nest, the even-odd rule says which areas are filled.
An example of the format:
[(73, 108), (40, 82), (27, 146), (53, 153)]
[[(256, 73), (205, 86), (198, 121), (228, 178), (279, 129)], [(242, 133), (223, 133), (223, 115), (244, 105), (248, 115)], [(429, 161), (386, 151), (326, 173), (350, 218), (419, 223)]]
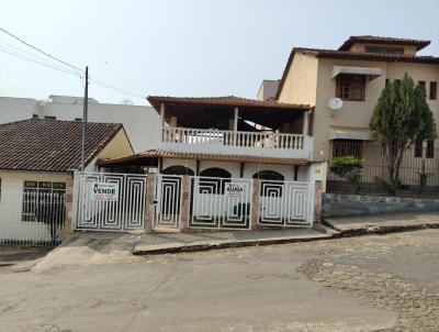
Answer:
[(0, 331), (438, 331), (439, 230), (0, 268)]

